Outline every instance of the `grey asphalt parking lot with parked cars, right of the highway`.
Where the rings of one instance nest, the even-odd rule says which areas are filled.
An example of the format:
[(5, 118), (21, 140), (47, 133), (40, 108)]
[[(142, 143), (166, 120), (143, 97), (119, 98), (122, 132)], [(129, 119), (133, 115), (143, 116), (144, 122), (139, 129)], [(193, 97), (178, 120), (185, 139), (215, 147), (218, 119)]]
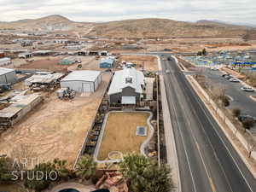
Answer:
[[(241, 83), (232, 83), (221, 77), (224, 73), (206, 69), (205, 75), (216, 84), (222, 84), (225, 88), (225, 94), (230, 96), (233, 101), (230, 102), (230, 108), (240, 108), (242, 114), (248, 114), (256, 117), (256, 102), (250, 96), (256, 96), (256, 92), (245, 92), (241, 90)], [(252, 128), (252, 133), (256, 135), (256, 125)]]

